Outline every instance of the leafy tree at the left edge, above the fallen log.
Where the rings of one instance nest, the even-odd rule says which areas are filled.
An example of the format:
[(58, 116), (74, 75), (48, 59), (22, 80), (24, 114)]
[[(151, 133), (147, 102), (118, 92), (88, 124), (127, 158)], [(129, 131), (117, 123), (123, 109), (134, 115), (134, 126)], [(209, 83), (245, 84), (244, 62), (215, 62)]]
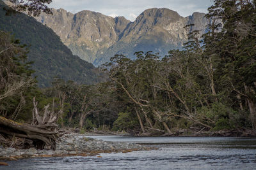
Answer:
[(35, 87), (31, 77), (31, 62), (26, 61), (28, 50), (0, 31), (0, 113), (15, 120), (26, 103), (26, 95)]

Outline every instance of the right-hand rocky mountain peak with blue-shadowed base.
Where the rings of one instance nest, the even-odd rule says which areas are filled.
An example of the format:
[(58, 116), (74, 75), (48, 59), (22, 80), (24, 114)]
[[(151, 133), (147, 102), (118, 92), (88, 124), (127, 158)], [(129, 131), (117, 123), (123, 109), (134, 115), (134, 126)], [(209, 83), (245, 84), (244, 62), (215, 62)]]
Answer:
[(193, 13), (189, 17), (181, 17), (176, 11), (166, 8), (152, 8), (141, 13), (134, 22), (129, 24), (120, 38), (106, 52), (97, 55), (93, 64), (106, 62), (116, 53), (122, 53), (130, 58), (134, 52), (153, 51), (164, 56), (169, 50), (181, 49), (187, 41), (184, 26), (195, 24), (193, 30), (205, 32), (208, 20), (204, 13)]

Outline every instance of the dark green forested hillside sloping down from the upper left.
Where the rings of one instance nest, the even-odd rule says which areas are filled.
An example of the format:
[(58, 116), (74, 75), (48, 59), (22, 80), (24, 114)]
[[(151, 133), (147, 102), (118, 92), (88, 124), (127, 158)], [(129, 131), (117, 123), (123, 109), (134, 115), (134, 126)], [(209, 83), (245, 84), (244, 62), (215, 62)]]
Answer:
[(101, 80), (101, 73), (91, 63), (73, 55), (61, 39), (45, 25), (23, 13), (6, 16), (0, 1), (0, 29), (10, 32), (29, 46), (28, 60), (40, 87), (49, 87), (55, 76), (63, 80), (92, 84)]

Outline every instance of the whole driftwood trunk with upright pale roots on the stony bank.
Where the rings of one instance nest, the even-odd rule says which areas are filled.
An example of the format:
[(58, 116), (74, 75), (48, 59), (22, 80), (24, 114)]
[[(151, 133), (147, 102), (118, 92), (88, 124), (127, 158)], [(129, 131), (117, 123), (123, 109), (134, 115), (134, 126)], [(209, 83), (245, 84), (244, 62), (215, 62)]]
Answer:
[(44, 146), (50, 146), (52, 150), (56, 149), (56, 141), (60, 138), (58, 125), (56, 121), (58, 116), (63, 113), (62, 109), (54, 112), (54, 99), (52, 102), (52, 111), (49, 111), (49, 104), (43, 111), (38, 111), (37, 102), (33, 98), (33, 120), (32, 124), (19, 124), (13, 120), (0, 117), (0, 133), (9, 137), (18, 137), (31, 139), (33, 145), (38, 149), (44, 149)]

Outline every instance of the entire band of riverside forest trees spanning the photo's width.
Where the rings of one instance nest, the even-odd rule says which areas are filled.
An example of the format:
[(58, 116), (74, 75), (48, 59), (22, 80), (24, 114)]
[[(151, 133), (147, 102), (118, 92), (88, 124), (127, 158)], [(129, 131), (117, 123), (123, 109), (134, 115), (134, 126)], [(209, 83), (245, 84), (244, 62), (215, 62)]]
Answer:
[[(78, 85), (56, 78), (39, 89), (24, 46), (1, 32), (0, 113), (31, 121), (33, 97), (51, 104), (62, 127), (125, 130), (133, 134), (180, 129), (256, 128), (256, 1), (216, 0), (200, 38), (190, 32), (184, 50), (165, 57), (115, 55), (102, 69), (109, 80)], [(193, 25), (186, 29), (191, 30)], [(6, 43), (8, 42), (8, 43)], [(3, 47), (3, 48), (2, 48)], [(4, 58), (5, 57), (5, 58)]]

